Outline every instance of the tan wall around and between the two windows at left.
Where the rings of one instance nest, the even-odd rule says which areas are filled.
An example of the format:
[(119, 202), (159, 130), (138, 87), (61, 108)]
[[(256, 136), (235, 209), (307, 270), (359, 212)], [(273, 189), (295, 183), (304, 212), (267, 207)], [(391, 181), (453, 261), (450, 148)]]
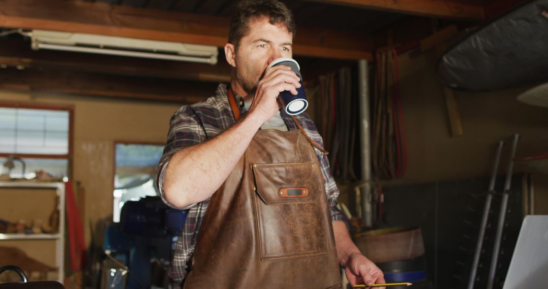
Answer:
[[(115, 141), (165, 143), (176, 103), (109, 100), (0, 90), (1, 101), (73, 105), (73, 180), (85, 190), (85, 224), (112, 220)], [(17, 205), (17, 204), (14, 204)], [(22, 204), (24, 205), (24, 204)], [(49, 208), (50, 206), (48, 206)], [(94, 232), (96, 244), (103, 235)], [(90, 244), (89, 226), (84, 227)]]

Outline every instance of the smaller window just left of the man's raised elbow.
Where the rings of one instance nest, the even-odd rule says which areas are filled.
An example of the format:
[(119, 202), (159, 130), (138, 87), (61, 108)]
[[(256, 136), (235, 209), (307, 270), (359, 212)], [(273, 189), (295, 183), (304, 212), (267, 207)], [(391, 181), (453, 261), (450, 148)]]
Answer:
[(158, 196), (154, 177), (163, 144), (116, 143), (112, 220), (120, 221), (122, 206), (146, 196)]

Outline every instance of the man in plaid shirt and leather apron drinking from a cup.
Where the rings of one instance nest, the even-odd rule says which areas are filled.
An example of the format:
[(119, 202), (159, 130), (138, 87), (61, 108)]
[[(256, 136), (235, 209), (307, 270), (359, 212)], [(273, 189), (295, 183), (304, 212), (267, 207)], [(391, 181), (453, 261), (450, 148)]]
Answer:
[(340, 288), (339, 265), (352, 285), (384, 283), (336, 209), (310, 117), (292, 119), (277, 101), (297, 94), (299, 78), (266, 67), (292, 57), (294, 34), (283, 3), (239, 3), (225, 45), (230, 87), (170, 121), (157, 183), (165, 203), (190, 209), (170, 271), (185, 288)]

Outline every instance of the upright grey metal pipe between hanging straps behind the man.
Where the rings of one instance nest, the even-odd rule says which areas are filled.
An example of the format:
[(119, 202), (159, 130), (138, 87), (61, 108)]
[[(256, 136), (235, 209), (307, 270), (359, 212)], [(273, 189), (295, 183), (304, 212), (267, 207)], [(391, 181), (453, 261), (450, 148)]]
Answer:
[(361, 164), (362, 182), (365, 184), (361, 190), (362, 219), (366, 227), (373, 226), (372, 194), (371, 194), (371, 144), (370, 120), (369, 120), (369, 71), (367, 60), (358, 60), (358, 86), (359, 86), (359, 130), (361, 132)]

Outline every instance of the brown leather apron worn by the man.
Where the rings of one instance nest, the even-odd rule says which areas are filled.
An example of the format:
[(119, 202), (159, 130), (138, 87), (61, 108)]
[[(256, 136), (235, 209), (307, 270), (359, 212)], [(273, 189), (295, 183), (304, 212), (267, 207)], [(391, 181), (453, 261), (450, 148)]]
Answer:
[(212, 196), (192, 263), (184, 288), (341, 287), (321, 169), (300, 130), (256, 132)]

